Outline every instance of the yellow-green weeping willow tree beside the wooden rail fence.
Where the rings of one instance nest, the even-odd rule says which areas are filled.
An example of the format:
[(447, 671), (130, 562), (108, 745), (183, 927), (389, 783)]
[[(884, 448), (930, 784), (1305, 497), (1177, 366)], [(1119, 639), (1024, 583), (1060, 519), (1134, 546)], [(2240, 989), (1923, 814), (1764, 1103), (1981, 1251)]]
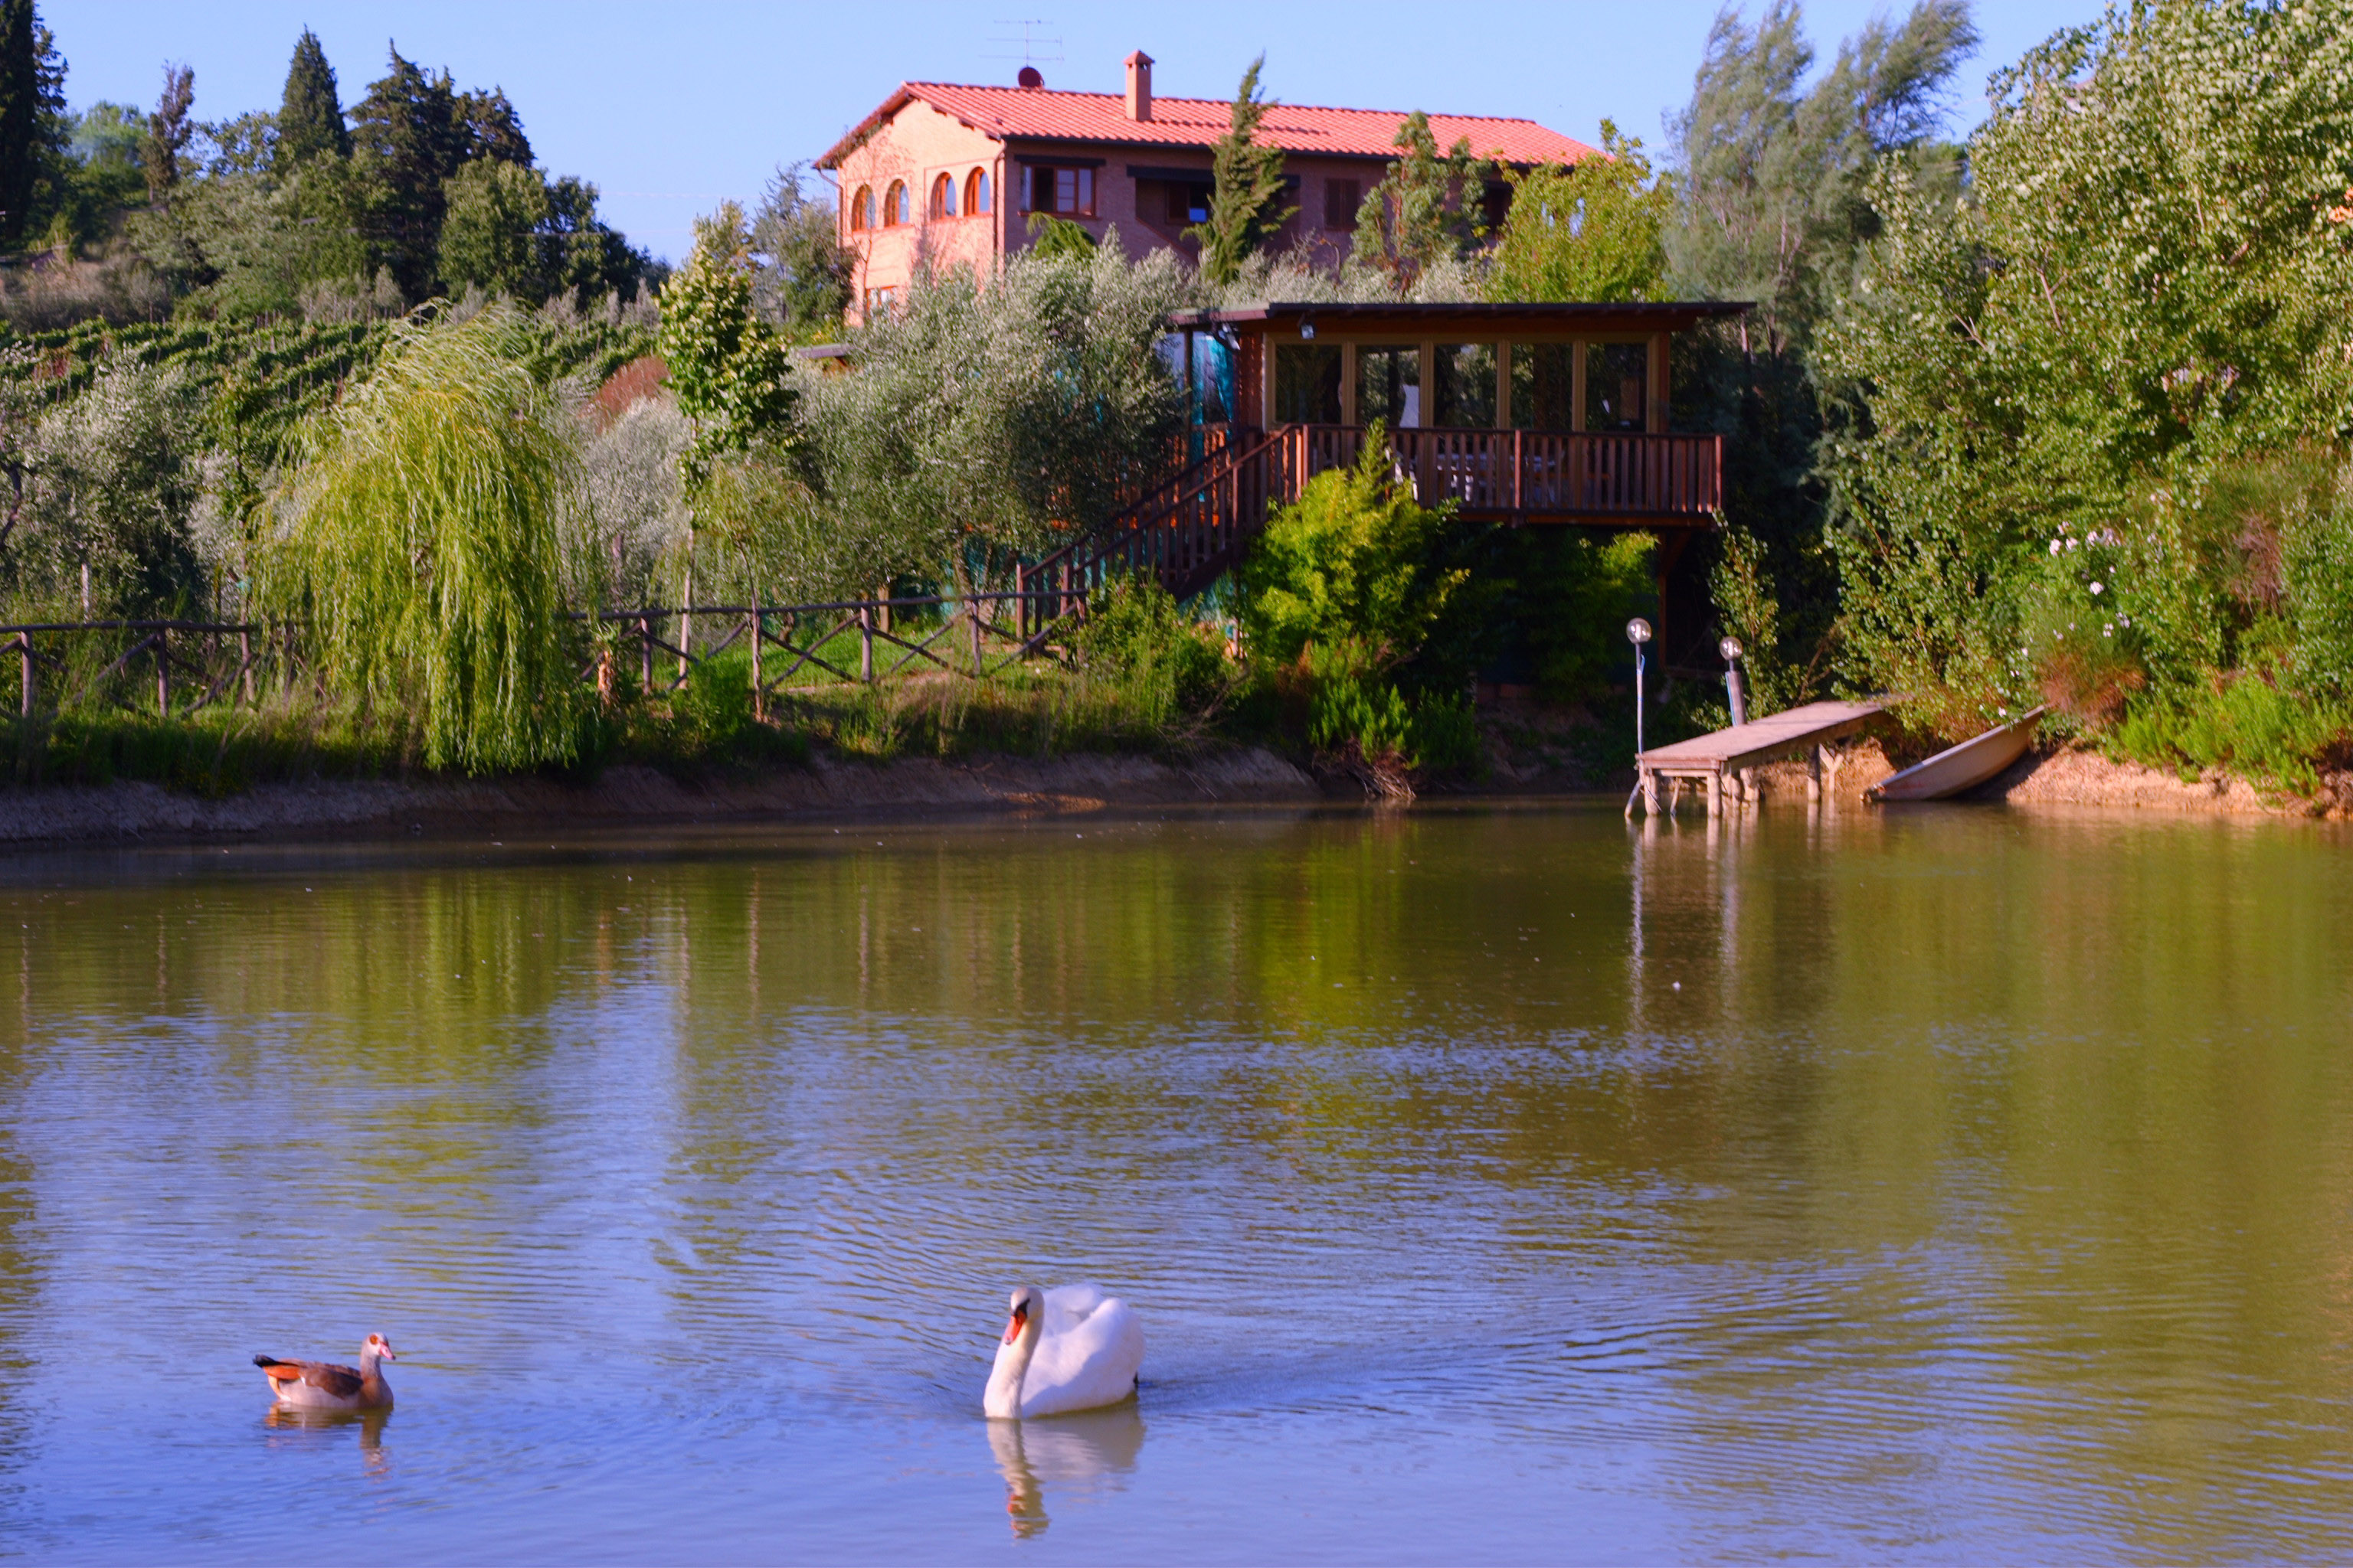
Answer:
[(308, 433), (261, 578), (278, 614), (308, 623), (327, 684), (405, 710), (431, 766), (534, 766), (576, 745), (562, 552), (576, 456), (527, 350), (506, 308), (398, 329)]

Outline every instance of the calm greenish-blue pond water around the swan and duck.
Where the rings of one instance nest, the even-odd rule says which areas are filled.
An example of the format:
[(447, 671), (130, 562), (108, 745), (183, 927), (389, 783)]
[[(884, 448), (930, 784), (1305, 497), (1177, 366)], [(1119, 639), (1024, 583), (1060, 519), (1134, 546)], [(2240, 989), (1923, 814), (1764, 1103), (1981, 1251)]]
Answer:
[[(2341, 1561), (2348, 936), (1991, 809), (19, 853), (0, 1552)], [(984, 1422), (1075, 1279), (1139, 1403)]]

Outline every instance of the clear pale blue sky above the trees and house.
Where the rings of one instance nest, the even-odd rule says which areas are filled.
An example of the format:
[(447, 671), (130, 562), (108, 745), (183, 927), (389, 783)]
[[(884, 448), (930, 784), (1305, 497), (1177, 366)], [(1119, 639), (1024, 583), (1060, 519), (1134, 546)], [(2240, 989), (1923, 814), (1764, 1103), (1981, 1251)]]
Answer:
[[(1817, 54), (1833, 56), (1878, 9), (1807, 5)], [(1292, 103), (1527, 115), (1588, 141), (1612, 115), (1657, 146), (1661, 115), (1689, 99), (1715, 5), (49, 0), (40, 12), (75, 108), (151, 106), (162, 63), (184, 61), (202, 120), (278, 108), (304, 26), (325, 42), (346, 106), (384, 75), (386, 45), (398, 42), (461, 87), (506, 87), (551, 172), (595, 181), (607, 221), (678, 256), (694, 214), (758, 195), (774, 165), (814, 158), (901, 80), (1012, 82), (1024, 28), (1007, 16), (1045, 19), (1031, 33), (1045, 40), (1033, 52), (1052, 87), (1118, 92), (1120, 61), (1141, 47), (1158, 61), (1158, 92), (1231, 96), (1264, 49), (1268, 92)], [(1965, 71), (1960, 127), (1979, 118), (1995, 66), (2097, 14), (2085, 0), (1981, 0), (1986, 45)]]

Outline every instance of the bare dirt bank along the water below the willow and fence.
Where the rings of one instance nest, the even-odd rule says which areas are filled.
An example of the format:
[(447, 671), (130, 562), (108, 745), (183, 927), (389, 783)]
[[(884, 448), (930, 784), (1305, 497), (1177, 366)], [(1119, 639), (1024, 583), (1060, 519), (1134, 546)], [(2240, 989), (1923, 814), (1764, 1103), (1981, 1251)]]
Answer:
[(224, 799), (151, 783), (0, 790), (0, 844), (209, 835), (374, 835), (546, 823), (567, 827), (868, 811), (1101, 811), (1104, 806), (1315, 802), (1318, 783), (1268, 750), (1155, 757), (814, 759), (741, 778), (645, 766), (555, 778), (259, 785)]

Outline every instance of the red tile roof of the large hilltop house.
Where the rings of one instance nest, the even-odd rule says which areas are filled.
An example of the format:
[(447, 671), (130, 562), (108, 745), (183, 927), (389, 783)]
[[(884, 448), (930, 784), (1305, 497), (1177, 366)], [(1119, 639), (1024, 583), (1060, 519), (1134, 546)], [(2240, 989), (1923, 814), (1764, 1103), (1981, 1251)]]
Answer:
[[(944, 115), (955, 115), (972, 129), (1005, 141), (1101, 141), (1122, 146), (1202, 148), (1226, 134), (1233, 103), (1224, 99), (1153, 99), (1151, 120), (1129, 120), (1127, 99), (1115, 92), (1047, 92), (1042, 87), (958, 87), (953, 82), (906, 82), (875, 113), (842, 136), (816, 160), (819, 169), (840, 167), (873, 132), (906, 103), (922, 99)], [(1311, 108), (1273, 103), (1259, 122), (1259, 141), (1285, 153), (1334, 153), (1341, 158), (1395, 158), (1398, 127), (1405, 113), (1393, 108)], [(1544, 129), (1534, 120), (1494, 120), (1487, 115), (1431, 115), (1438, 146), (1471, 139), (1480, 158), (1511, 165), (1581, 162), (1595, 148)]]

